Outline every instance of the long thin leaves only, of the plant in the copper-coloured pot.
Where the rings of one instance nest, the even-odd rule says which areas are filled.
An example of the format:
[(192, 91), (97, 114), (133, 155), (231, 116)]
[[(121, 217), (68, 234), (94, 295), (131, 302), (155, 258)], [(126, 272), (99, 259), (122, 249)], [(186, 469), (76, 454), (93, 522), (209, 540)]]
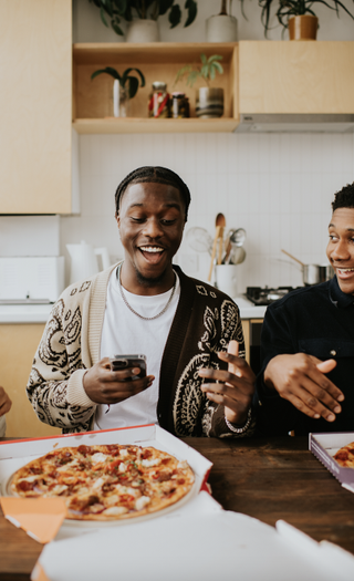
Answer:
[(275, 9), (278, 22), (283, 27), (284, 32), (288, 28), (288, 22), (291, 17), (301, 17), (304, 14), (311, 14), (315, 17), (316, 14), (312, 10), (312, 6), (315, 2), (324, 4), (331, 10), (334, 10), (337, 17), (340, 17), (340, 8), (342, 8), (351, 18), (354, 19), (354, 15), (344, 4), (342, 4), (340, 0), (259, 0), (258, 4), (262, 9), (261, 21), (264, 27), (264, 37), (268, 35), (268, 31), (271, 28), (269, 22), (271, 19), (271, 9), (273, 7)]

